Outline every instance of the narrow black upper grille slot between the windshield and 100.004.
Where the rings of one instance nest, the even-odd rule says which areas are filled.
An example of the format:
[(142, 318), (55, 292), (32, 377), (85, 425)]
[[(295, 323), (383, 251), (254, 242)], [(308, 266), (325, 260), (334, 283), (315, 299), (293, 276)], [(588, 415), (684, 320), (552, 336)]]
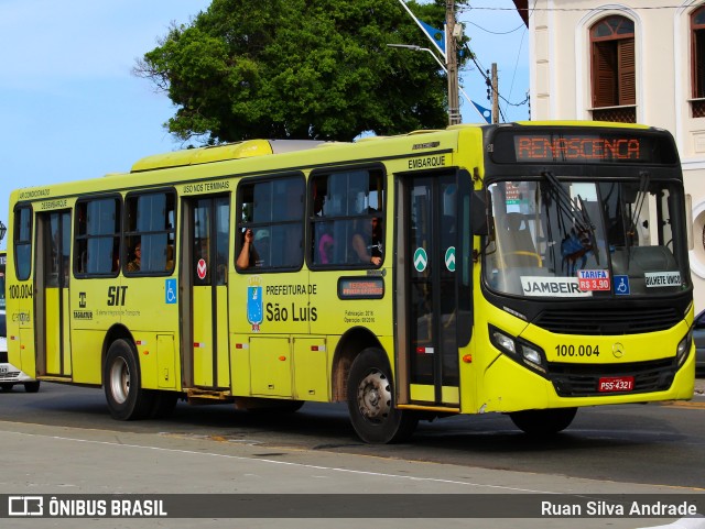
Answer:
[(671, 329), (683, 319), (673, 307), (544, 310), (534, 324), (560, 334), (639, 334)]

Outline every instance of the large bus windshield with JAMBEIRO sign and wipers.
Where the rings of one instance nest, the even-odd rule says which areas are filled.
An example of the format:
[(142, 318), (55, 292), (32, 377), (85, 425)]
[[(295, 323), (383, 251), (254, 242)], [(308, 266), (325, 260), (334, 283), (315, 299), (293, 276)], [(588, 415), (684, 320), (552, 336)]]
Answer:
[[(523, 297), (649, 296), (688, 288), (684, 201), (670, 181), (543, 178), (489, 186), (485, 280)], [(681, 262), (681, 263), (680, 263)]]

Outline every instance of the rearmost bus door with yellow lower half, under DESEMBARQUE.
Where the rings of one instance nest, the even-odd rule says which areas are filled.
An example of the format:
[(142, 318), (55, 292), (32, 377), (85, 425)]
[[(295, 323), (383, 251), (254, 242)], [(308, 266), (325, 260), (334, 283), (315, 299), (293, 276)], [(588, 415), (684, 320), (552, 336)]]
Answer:
[(37, 214), (37, 374), (70, 377), (70, 211)]

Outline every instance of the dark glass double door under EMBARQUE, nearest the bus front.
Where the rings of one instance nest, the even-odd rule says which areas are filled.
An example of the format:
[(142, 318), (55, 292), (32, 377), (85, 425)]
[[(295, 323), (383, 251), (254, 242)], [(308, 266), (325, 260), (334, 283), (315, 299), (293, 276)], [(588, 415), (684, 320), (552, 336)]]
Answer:
[(456, 408), (456, 175), (426, 175), (399, 181), (399, 403)]

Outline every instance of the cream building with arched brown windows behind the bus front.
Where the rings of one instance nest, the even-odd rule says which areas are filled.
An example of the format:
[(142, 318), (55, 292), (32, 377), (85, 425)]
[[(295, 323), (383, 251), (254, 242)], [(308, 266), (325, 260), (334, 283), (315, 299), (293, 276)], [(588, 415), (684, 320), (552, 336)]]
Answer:
[(532, 120), (671, 131), (692, 197), (695, 311), (705, 309), (705, 1), (514, 0), (530, 30)]

